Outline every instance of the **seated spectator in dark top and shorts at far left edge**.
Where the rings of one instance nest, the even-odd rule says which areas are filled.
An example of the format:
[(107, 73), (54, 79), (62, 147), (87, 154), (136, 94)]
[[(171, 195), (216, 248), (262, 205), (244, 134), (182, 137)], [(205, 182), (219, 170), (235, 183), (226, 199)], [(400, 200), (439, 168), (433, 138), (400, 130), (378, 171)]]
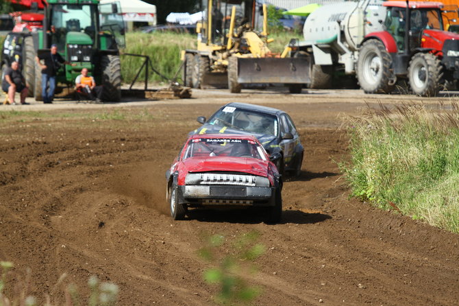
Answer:
[(21, 71), (19, 71), (18, 62), (12, 62), (11, 67), (5, 70), (5, 76), (1, 82), (1, 89), (5, 93), (8, 93), (8, 98), (10, 99), (11, 104), (16, 104), (14, 102), (14, 94), (21, 93), (21, 104), (25, 103), (25, 97), (29, 92), (29, 87), (25, 84), (25, 78)]

